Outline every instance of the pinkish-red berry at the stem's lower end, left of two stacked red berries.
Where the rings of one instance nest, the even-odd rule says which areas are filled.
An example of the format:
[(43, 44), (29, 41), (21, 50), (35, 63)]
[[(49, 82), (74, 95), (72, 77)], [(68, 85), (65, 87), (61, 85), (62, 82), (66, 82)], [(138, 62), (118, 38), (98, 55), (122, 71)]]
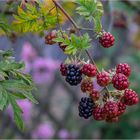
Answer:
[(105, 71), (103, 71), (97, 75), (97, 83), (100, 86), (105, 87), (109, 84), (110, 81), (111, 81), (111, 79), (110, 79), (109, 73), (107, 73)]

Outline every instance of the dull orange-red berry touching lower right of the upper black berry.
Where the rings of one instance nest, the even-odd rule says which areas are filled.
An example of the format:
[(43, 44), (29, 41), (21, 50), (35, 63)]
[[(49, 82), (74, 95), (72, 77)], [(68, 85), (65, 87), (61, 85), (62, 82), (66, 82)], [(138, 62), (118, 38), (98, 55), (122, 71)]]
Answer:
[(84, 79), (81, 83), (82, 92), (91, 92), (93, 89), (93, 82), (89, 79)]

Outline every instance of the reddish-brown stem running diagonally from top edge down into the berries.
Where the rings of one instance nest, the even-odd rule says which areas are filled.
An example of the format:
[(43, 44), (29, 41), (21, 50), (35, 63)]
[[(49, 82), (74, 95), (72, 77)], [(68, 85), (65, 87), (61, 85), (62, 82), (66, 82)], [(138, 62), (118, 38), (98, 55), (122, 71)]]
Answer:
[[(63, 14), (69, 19), (69, 21), (73, 24), (73, 26), (75, 27), (75, 29), (79, 32), (79, 34), (81, 34), (80, 33), (80, 29), (82, 29), (82, 28), (79, 28), (78, 26), (77, 26), (77, 24), (76, 24), (76, 22), (68, 15), (68, 13), (64, 10), (64, 8), (57, 2), (57, 1), (55, 1), (55, 0), (52, 0), (53, 1), (53, 3), (63, 12)], [(98, 69), (98, 67), (97, 67), (97, 65), (96, 65), (96, 63), (95, 63), (95, 61), (92, 59), (92, 57), (91, 57), (91, 55), (90, 55), (90, 53), (88, 52), (88, 50), (85, 50), (85, 52), (86, 52), (86, 54), (88, 55), (88, 57), (89, 57), (89, 59), (90, 59), (90, 61), (92, 62), (92, 64), (94, 64), (95, 66), (96, 66), (96, 68), (97, 68), (97, 73), (100, 73), (100, 70)], [(108, 90), (108, 88), (107, 87), (104, 87), (105, 88), (105, 90), (108, 92), (108, 94), (109, 94), (109, 90)], [(110, 95), (110, 94), (109, 94)]]

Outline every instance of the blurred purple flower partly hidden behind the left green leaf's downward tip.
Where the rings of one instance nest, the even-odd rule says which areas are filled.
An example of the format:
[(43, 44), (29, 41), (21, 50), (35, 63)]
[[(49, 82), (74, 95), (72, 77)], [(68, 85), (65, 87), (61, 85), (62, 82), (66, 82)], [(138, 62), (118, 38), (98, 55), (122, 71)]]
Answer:
[[(23, 111), (22, 114), (23, 120), (26, 123), (29, 123), (32, 115), (32, 107), (33, 107), (32, 103), (29, 100), (25, 99), (25, 100), (18, 100), (17, 104), (21, 107)], [(13, 118), (13, 110), (11, 106), (8, 107), (7, 112), (9, 116)]]

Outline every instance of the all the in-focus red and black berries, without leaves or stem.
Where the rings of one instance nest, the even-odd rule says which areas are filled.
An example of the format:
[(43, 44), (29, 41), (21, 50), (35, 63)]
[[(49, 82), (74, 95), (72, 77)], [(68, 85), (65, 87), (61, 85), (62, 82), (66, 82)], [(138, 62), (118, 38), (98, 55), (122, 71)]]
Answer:
[[(46, 37), (46, 44), (54, 44), (56, 33), (51, 32)], [(109, 48), (114, 45), (115, 38), (109, 32), (103, 32), (99, 37), (100, 44)], [(59, 47), (65, 51), (66, 47), (59, 42)], [(131, 68), (127, 63), (120, 63), (113, 70), (100, 72), (96, 65), (83, 61), (69, 61), (60, 65), (61, 75), (71, 86), (80, 84), (81, 91), (88, 97), (82, 97), (79, 102), (79, 116), (85, 119), (93, 116), (97, 121), (117, 122), (124, 114), (127, 106), (138, 103), (138, 94), (129, 89)], [(94, 81), (102, 87), (99, 91)], [(109, 91), (107, 86), (114, 89)]]

